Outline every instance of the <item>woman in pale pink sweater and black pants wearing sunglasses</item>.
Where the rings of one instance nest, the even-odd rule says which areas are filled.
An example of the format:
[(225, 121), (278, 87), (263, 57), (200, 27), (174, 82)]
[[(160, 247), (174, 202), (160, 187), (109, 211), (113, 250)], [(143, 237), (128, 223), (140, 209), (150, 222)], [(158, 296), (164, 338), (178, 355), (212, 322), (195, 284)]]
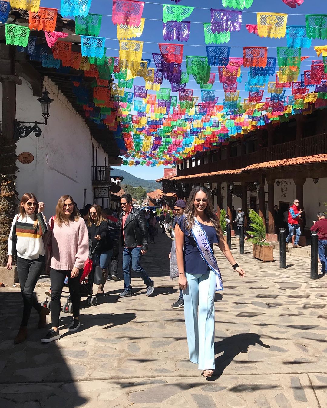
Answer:
[(79, 322), (80, 276), (84, 263), (89, 257), (89, 234), (85, 221), (78, 214), (74, 200), (70, 195), (59, 198), (56, 206), (56, 216), (49, 222), (51, 233), (52, 254), (50, 264), (51, 279), (51, 320), (52, 328), (41, 339), (43, 343), (60, 339), (58, 330), (60, 315), (60, 296), (65, 277), (68, 277), (68, 287), (73, 306), (73, 318), (68, 331), (76, 331)]

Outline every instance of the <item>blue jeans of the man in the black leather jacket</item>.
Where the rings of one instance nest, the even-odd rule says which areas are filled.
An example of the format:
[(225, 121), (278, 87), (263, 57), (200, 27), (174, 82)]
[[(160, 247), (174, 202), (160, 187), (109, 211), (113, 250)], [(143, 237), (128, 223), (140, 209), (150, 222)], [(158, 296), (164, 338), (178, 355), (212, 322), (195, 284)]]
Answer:
[(146, 286), (149, 286), (152, 282), (149, 275), (144, 271), (141, 266), (141, 247), (136, 248), (124, 248), (123, 251), (123, 273), (124, 273), (124, 288), (132, 290), (132, 275), (130, 271), (130, 264), (132, 262), (133, 271), (139, 273)]

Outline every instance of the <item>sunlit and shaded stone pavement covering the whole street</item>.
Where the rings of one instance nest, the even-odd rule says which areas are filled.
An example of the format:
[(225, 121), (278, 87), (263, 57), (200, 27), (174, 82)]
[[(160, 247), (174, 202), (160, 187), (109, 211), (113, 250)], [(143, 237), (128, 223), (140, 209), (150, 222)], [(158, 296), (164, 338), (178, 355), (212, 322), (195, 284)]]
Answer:
[[(327, 277), (310, 280), (309, 259), (287, 256), (280, 270), (248, 247), (238, 255), (234, 243), (240, 279), (215, 250), (225, 290), (215, 305), (217, 376), (208, 380), (188, 361), (183, 310), (170, 308), (170, 244), (159, 233), (143, 258), (153, 297), (135, 278), (134, 295), (119, 299), (122, 282), (110, 281), (98, 305), (82, 301), (80, 331), (68, 334), (71, 315), (61, 314), (54, 343), (40, 343), (47, 329), (37, 330), (32, 311), (29, 339), (14, 346), (19, 287), (0, 289), (0, 407), (326, 408)], [(40, 279), (40, 301), (48, 285)]]

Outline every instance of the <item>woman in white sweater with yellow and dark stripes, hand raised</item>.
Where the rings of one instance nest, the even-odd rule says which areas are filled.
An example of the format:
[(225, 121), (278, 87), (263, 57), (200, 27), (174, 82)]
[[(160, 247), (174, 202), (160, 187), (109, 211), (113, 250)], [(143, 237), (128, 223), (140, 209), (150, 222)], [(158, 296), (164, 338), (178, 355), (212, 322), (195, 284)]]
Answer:
[(12, 255), (17, 251), (17, 273), (24, 303), (22, 323), (14, 344), (21, 343), (27, 338), (27, 323), (32, 307), (40, 316), (38, 328), (45, 326), (46, 316), (50, 313), (50, 310), (43, 308), (33, 295), (36, 282), (45, 266), (42, 237), (47, 232), (47, 224), (42, 213), (43, 208), (43, 202), (38, 203), (34, 194), (25, 193), (20, 202), (19, 214), (13, 218), (9, 233), (7, 269), (12, 269)]

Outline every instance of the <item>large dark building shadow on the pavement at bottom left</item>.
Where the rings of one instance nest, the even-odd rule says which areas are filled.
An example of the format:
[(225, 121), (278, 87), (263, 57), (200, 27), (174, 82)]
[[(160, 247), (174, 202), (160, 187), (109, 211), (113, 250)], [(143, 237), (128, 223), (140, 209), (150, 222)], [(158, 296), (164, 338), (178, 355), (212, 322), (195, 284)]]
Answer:
[(22, 317), (20, 292), (1, 290), (0, 310), (0, 406), (27, 406), (30, 401), (42, 407), (75, 408), (87, 404), (88, 400), (79, 395), (72, 367), (67, 365), (58, 342), (40, 342), (48, 329), (37, 329), (38, 314), (34, 309), (29, 337), (13, 344)]

